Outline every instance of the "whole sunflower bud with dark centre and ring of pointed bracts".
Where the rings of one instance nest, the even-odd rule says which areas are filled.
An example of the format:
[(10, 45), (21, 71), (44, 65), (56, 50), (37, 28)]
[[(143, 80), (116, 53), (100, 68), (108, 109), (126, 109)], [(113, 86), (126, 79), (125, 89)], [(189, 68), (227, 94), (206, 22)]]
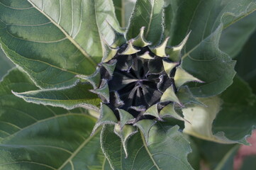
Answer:
[[(148, 140), (148, 131), (165, 117), (184, 120), (175, 108), (184, 103), (198, 103), (189, 92), (189, 81), (202, 82), (180, 66), (181, 51), (189, 35), (175, 47), (167, 47), (169, 38), (157, 47), (145, 40), (144, 28), (131, 40), (116, 33), (97, 71), (88, 79), (92, 92), (101, 98), (101, 115), (94, 130), (103, 124), (114, 124), (126, 150), (130, 135), (138, 127)], [(127, 153), (126, 153), (127, 154)]]

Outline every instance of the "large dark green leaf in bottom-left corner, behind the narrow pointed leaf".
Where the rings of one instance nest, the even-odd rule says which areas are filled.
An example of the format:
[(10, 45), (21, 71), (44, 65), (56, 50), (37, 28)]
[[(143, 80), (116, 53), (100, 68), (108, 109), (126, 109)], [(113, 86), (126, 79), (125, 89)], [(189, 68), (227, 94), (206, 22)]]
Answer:
[(13, 69), (0, 84), (0, 169), (110, 169), (96, 120), (81, 109), (26, 103), (11, 90), (38, 89)]

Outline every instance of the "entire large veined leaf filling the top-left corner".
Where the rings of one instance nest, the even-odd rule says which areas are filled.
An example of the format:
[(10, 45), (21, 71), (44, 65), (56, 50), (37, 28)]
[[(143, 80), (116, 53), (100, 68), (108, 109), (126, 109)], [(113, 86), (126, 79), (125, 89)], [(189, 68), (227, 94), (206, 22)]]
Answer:
[(35, 4), (0, 1), (0, 43), (6, 55), (42, 88), (70, 86), (75, 75), (92, 74), (103, 56), (100, 35), (113, 39), (106, 21), (118, 27), (113, 4), (30, 2)]

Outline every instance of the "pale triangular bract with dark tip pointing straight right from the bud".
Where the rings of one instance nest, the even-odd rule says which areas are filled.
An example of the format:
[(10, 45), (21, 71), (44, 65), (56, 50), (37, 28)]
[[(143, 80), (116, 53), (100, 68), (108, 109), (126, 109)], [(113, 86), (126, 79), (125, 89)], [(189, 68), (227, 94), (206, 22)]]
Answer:
[(179, 89), (180, 86), (183, 84), (189, 82), (189, 81), (196, 81), (199, 83), (204, 83), (204, 81), (201, 81), (197, 79), (196, 77), (192, 76), (191, 74), (187, 73), (184, 69), (181, 67), (177, 67), (177, 70), (174, 75), (174, 82), (177, 89)]

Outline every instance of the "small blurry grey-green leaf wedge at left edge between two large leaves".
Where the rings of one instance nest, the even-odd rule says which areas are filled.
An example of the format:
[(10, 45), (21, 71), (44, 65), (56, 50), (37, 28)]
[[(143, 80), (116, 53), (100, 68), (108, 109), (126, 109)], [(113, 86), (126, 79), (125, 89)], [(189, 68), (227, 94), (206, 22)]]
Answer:
[(14, 67), (13, 63), (4, 55), (4, 52), (0, 48), (0, 79), (4, 77), (4, 74), (12, 67)]

